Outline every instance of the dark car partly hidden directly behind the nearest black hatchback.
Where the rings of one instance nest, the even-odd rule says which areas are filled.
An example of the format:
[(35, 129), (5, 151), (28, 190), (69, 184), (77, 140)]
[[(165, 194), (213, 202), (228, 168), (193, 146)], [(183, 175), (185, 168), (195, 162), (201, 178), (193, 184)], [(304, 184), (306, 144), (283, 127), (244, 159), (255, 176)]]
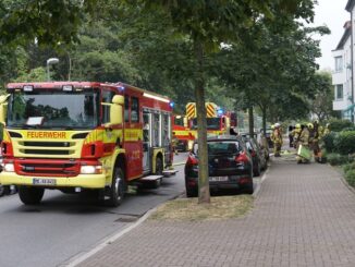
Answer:
[(243, 135), (243, 138), (253, 159), (253, 173), (255, 177), (259, 177), (261, 170), (265, 170), (268, 167), (266, 154), (255, 138), (247, 135)]

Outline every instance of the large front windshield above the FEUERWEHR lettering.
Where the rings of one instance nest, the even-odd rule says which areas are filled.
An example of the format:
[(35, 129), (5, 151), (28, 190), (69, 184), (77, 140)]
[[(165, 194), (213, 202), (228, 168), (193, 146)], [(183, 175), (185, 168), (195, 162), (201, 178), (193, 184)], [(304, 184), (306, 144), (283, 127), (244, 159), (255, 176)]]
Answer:
[(98, 124), (98, 93), (14, 92), (9, 99), (8, 126), (93, 129)]

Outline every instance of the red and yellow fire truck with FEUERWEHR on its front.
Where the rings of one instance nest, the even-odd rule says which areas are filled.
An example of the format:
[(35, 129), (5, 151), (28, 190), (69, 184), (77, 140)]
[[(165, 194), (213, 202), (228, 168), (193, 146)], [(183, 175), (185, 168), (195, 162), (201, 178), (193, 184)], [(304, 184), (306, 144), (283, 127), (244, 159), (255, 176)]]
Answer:
[(0, 183), (17, 185), (24, 204), (57, 189), (95, 191), (118, 206), (128, 185), (159, 186), (175, 172), (168, 97), (124, 83), (11, 83), (7, 90)]

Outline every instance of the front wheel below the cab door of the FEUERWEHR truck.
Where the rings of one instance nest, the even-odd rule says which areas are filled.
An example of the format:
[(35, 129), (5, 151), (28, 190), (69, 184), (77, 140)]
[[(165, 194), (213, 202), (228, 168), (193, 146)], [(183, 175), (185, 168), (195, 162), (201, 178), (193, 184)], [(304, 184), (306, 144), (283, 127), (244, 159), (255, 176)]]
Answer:
[(122, 204), (125, 191), (124, 172), (122, 168), (115, 167), (112, 178), (112, 184), (109, 193), (108, 205), (118, 207)]

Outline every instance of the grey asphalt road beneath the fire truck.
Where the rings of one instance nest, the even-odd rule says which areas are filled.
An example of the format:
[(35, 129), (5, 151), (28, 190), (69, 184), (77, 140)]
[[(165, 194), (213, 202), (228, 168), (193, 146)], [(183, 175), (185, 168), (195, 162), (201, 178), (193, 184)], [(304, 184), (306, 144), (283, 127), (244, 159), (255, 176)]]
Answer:
[[(175, 156), (184, 162), (186, 154)], [(78, 195), (46, 191), (38, 206), (23, 205), (17, 194), (0, 198), (0, 266), (61, 266), (137, 220), (149, 209), (184, 192), (183, 165), (158, 190), (126, 195), (117, 208)]]

